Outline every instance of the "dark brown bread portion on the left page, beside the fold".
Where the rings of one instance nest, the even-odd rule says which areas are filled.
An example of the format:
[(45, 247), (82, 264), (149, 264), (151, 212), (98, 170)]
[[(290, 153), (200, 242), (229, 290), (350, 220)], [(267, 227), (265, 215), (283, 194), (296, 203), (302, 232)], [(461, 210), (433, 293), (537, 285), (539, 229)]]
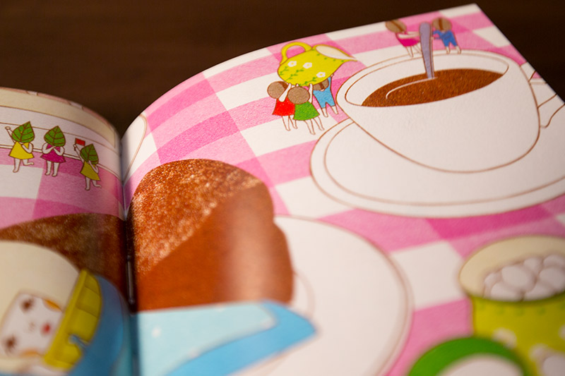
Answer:
[(124, 221), (109, 214), (66, 214), (0, 229), (0, 240), (42, 245), (78, 269), (108, 279), (126, 296)]

